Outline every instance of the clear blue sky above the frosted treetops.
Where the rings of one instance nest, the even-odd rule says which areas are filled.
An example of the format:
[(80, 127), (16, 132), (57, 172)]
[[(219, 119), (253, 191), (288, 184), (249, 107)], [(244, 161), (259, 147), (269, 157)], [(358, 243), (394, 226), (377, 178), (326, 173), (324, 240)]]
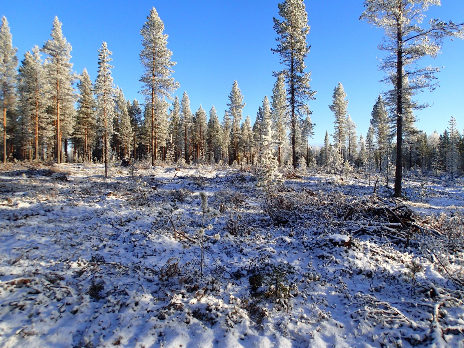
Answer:
[[(113, 77), (125, 97), (142, 100), (138, 94), (142, 74), (139, 52), (140, 29), (152, 6), (155, 6), (169, 35), (174, 77), (180, 82), (176, 95), (187, 91), (194, 112), (202, 104), (207, 111), (214, 104), (222, 119), (227, 96), (234, 80), (242, 90), (246, 106), (244, 118), (254, 122), (263, 97), (271, 97), (275, 77), (280, 70), (279, 57), (271, 52), (276, 46), (272, 18), (278, 16), (276, 0), (240, 1), (2, 1), (0, 16), (8, 19), (18, 58), (33, 45), (42, 46), (50, 38), (55, 15), (63, 22), (64, 36), (71, 43), (74, 70), (84, 67), (95, 80), (97, 50), (102, 41), (113, 52)], [(366, 135), (372, 106), (385, 87), (378, 80), (377, 58), (383, 52), (377, 45), (383, 35), (358, 20), (363, 10), (361, 0), (306, 0), (311, 51), (306, 60), (312, 71), (311, 87), (316, 101), (309, 102), (316, 123), (314, 143), (323, 142), (326, 130), (333, 132), (333, 116), (328, 105), (335, 86), (342, 82), (348, 95), (348, 112), (358, 125), (358, 135)], [(442, 6), (427, 13), (427, 20), (464, 21), (464, 1), (443, 0)], [(445, 66), (438, 74), (440, 87), (418, 97), (433, 103), (417, 112), (418, 127), (427, 134), (447, 127), (451, 115), (464, 129), (464, 42), (445, 41), (442, 54), (422, 62)]]

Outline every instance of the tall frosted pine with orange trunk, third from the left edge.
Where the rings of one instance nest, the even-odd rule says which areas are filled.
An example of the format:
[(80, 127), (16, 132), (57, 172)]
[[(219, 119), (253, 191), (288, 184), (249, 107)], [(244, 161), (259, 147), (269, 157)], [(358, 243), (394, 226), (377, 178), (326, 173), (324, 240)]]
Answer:
[[(51, 109), (56, 123), (55, 157), (58, 163), (62, 162), (62, 142), (73, 132), (76, 118), (74, 103), (77, 95), (74, 94), (75, 75), (72, 72), (72, 47), (61, 30), (62, 23), (55, 17), (52, 27), (52, 39), (44, 43), (42, 52), (49, 58), (45, 60), (47, 83), (50, 88)], [(67, 148), (65, 147), (65, 151)]]

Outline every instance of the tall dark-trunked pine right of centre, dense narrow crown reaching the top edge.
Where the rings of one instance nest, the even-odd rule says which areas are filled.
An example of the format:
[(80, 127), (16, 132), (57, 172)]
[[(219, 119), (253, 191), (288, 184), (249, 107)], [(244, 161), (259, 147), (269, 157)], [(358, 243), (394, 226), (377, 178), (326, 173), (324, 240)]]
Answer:
[(278, 4), (279, 15), (283, 20), (274, 18), (274, 30), (278, 38), (276, 49), (272, 52), (278, 53), (281, 64), (286, 68), (284, 71), (274, 72), (275, 76), (281, 73), (285, 76), (287, 83), (287, 96), (290, 104), (290, 128), (292, 143), (292, 162), (296, 169), (296, 127), (297, 116), (306, 101), (314, 100), (315, 91), (309, 86), (311, 73), (304, 72), (306, 65), (304, 59), (308, 56), (310, 46), (306, 43), (309, 34), (308, 13), (303, 0), (284, 0)]

